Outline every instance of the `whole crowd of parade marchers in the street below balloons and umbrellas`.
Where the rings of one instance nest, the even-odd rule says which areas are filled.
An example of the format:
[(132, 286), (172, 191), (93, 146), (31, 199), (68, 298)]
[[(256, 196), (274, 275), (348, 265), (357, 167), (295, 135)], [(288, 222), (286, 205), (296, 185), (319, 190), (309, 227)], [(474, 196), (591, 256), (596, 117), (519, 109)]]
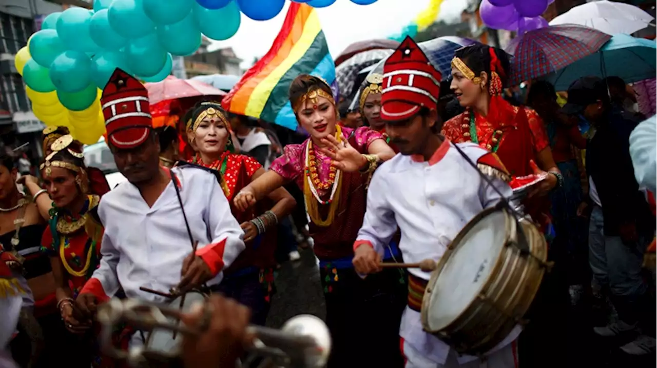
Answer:
[[(322, 79), (296, 77), (289, 100), (308, 135), (290, 139), (212, 101), (187, 112), (181, 129), (153, 129), (145, 87), (116, 70), (101, 102), (128, 182), (110, 188), (63, 127), (44, 131), (41, 179), (19, 179), (14, 160), (0, 160), (0, 309), (9, 316), (0, 366), (121, 366), (99, 346), (98, 307), (185, 293), (213, 295), (210, 328), (184, 339), (185, 367), (232, 366), (248, 323), (265, 324), (277, 264), (298, 258), (297, 241), (317, 258), (328, 367), (576, 366), (564, 338), (576, 291), (618, 314), (595, 327), (600, 338), (623, 337), (613, 341), (629, 356), (654, 353), (654, 285), (642, 268), (654, 216), (629, 153), (642, 118), (631, 93), (618, 79), (583, 77), (559, 106), (538, 81), (516, 106), (505, 98), (509, 73), (505, 52), (472, 45), (455, 52), (445, 83), (407, 38), (382, 75), (365, 79), (355, 110)], [(554, 267), (528, 324), (485, 354), (459, 354), (423, 329), (431, 274), (381, 262), (440, 260), (470, 219), (527, 176), (542, 180), (524, 216)], [(147, 338), (131, 325), (112, 337), (126, 350)]]

